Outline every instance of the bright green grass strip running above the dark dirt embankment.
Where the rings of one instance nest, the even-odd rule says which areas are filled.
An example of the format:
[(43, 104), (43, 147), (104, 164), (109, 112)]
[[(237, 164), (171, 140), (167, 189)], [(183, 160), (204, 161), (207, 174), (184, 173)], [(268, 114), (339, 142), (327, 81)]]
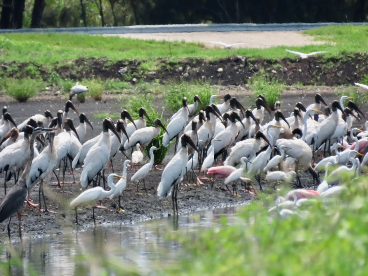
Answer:
[[(366, 52), (368, 49), (368, 26), (327, 26), (304, 31), (306, 35), (322, 40), (323, 45), (289, 47), (290, 50), (313, 52), (328, 51), (325, 57), (341, 57), (342, 54)], [(0, 35), (0, 49), (3, 50), (0, 61), (33, 62), (53, 68), (55, 64), (80, 57), (106, 57), (114, 63), (118, 60), (145, 60), (151, 62), (143, 67), (154, 69), (156, 58), (177, 60), (187, 57), (203, 57), (213, 60), (242, 55), (248, 58), (263, 57), (280, 59), (285, 56), (297, 58), (285, 52), (285, 46), (268, 49), (236, 49), (227, 51), (221, 47), (206, 49), (203, 43), (184, 43), (177, 41), (138, 40), (118, 38), (116, 36), (80, 35), (65, 33), (7, 33)], [(33, 70), (33, 69), (32, 69)]]

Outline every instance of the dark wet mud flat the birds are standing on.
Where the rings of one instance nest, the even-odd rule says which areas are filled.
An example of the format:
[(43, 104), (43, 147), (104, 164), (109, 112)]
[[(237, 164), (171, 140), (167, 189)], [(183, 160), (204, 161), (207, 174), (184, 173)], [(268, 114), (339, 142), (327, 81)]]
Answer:
[[(282, 93), (283, 110), (287, 110), (289, 113), (293, 109), (295, 103), (301, 100), (306, 106), (313, 103), (314, 95), (319, 92), (323, 95), (323, 98), (327, 103), (331, 103), (332, 100), (336, 99), (336, 88), (329, 87), (294, 87), (286, 90)], [(218, 89), (219, 94), (230, 93), (232, 96), (236, 96), (244, 106), (250, 106), (252, 102), (249, 100), (252, 98), (252, 92), (246, 86), (220, 86)], [(121, 101), (117, 98), (118, 96), (105, 95), (101, 102), (96, 102), (92, 98), (86, 98), (85, 103), (77, 105), (79, 112), (86, 113), (87, 117), (91, 120), (94, 130), (90, 131), (90, 135), (95, 136), (102, 130), (102, 120), (93, 119), (92, 115), (96, 113), (113, 113), (120, 112), (124, 107), (121, 106)], [(158, 105), (162, 102), (162, 99), (155, 99)], [(252, 99), (253, 101), (254, 99)], [(13, 116), (16, 123), (20, 123), (25, 118), (42, 113), (46, 109), (50, 109), (54, 114), (57, 110), (63, 109), (65, 104), (64, 96), (42, 96), (33, 98), (26, 103), (17, 103), (11, 100), (0, 102), (0, 106), (7, 105), (8, 111)], [(366, 108), (363, 108), (366, 110)], [(78, 122), (76, 114), (71, 113), (70, 117)], [(265, 118), (265, 121), (269, 120), (269, 116)], [(361, 124), (363, 124), (362, 122)], [(84, 142), (84, 141), (82, 141)], [(162, 166), (158, 166), (163, 169), (167, 160), (172, 156), (173, 146), (170, 148), (170, 155), (167, 155)], [(114, 169), (115, 172), (121, 174), (123, 171), (123, 162), (125, 157), (123, 154), (118, 153), (114, 157)], [(144, 162), (148, 162), (146, 158)], [(77, 173), (80, 170), (76, 171)], [(106, 175), (111, 173), (111, 169), (106, 170)], [(134, 171), (128, 170), (128, 180), (134, 174)], [(162, 171), (152, 171), (146, 180), (146, 187), (148, 188), (149, 195), (144, 194), (142, 185), (140, 185), (139, 193), (135, 190), (135, 184), (128, 181), (126, 190), (123, 192), (121, 198), (121, 205), (124, 208), (124, 212), (117, 210), (118, 199), (114, 198), (112, 201), (105, 199), (102, 201), (103, 205), (110, 210), (95, 209), (96, 223), (99, 224), (116, 224), (116, 223), (134, 223), (139, 220), (152, 219), (160, 216), (171, 215), (172, 204), (171, 198), (159, 199), (156, 195), (156, 189), (158, 187), (160, 176)], [(79, 175), (75, 176), (79, 180)], [(72, 175), (67, 172), (66, 182), (72, 181)], [(203, 180), (206, 185), (188, 185), (187, 180), (184, 180), (180, 185), (180, 191), (178, 192), (178, 205), (180, 213), (192, 212), (198, 209), (214, 208), (220, 206), (229, 205), (240, 205), (246, 204), (250, 200), (255, 200), (256, 197), (245, 192), (241, 192), (240, 184), (237, 185), (239, 195), (236, 197), (230, 194), (229, 191), (223, 185), (223, 180), (217, 180), (211, 188), (211, 182)], [(312, 178), (309, 173), (301, 174), (301, 181), (305, 186), (312, 185)], [(117, 180), (114, 181), (115, 183)], [(192, 184), (192, 182), (190, 183)], [(11, 184), (13, 185), (13, 180)], [(263, 188), (268, 188), (269, 183), (262, 181)], [(91, 205), (88, 207), (78, 208), (78, 219), (81, 226), (75, 224), (74, 210), (69, 208), (71, 199), (77, 197), (82, 192), (80, 184), (65, 184), (64, 190), (67, 193), (60, 194), (60, 191), (56, 185), (52, 184), (52, 180), (48, 177), (45, 181), (45, 194), (47, 207), (49, 210), (55, 211), (56, 213), (41, 213), (38, 208), (32, 208), (25, 206), (22, 214), (22, 233), (24, 237), (36, 238), (45, 235), (53, 235), (66, 233), (68, 231), (82, 231), (86, 227), (93, 225), (92, 209)], [(2, 186), (1, 186), (2, 187)], [(258, 185), (255, 186), (257, 189)], [(270, 190), (272, 191), (273, 188)], [(0, 198), (4, 197), (4, 189), (0, 189)], [(33, 188), (31, 192), (31, 198), (34, 199), (35, 203), (38, 203), (38, 187)], [(0, 224), (0, 240), (7, 241), (7, 222)], [(11, 221), (11, 236), (17, 240), (18, 227), (17, 218), (13, 217)]]

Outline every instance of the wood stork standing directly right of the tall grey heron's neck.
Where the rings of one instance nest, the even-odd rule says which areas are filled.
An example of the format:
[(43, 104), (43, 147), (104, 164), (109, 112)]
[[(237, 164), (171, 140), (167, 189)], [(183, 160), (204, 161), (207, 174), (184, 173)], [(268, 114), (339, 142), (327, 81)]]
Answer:
[[(29, 171), (29, 179), (27, 185), (28, 193), (32, 190), (33, 187), (35, 187), (35, 185), (40, 184), (38, 190), (38, 199), (39, 210), (41, 212), (49, 212), (47, 210), (45, 194), (43, 193), (43, 180), (45, 179), (45, 177), (49, 176), (52, 173), (52, 170), (56, 165), (57, 152), (54, 146), (54, 136), (55, 132), (51, 131), (49, 136), (50, 144), (45, 149), (43, 149), (43, 151), (35, 159), (33, 159), (31, 170)], [(41, 192), (43, 203), (45, 205), (44, 210), (41, 208)]]

